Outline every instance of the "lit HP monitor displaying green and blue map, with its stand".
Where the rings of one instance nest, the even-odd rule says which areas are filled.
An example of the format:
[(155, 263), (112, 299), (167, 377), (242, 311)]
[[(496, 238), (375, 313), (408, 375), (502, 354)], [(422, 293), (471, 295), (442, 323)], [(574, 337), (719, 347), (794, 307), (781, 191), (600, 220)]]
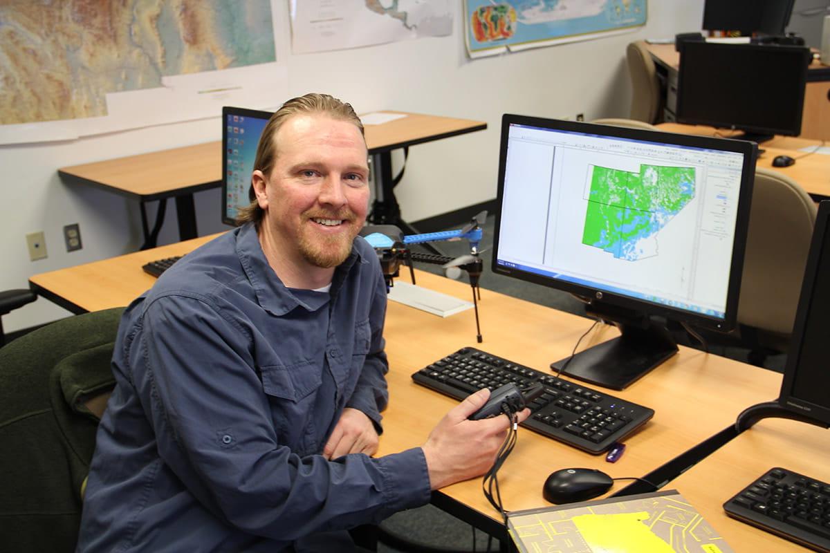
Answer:
[(622, 390), (676, 353), (662, 320), (735, 327), (757, 146), (505, 114), (492, 269), (622, 337), (554, 363)]

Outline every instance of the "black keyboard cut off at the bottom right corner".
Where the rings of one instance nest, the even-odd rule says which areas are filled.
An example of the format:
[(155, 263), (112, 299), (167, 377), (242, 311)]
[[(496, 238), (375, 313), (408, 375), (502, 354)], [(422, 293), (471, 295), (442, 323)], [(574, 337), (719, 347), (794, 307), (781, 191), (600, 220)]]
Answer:
[(830, 484), (771, 468), (724, 503), (727, 515), (816, 551), (830, 551)]

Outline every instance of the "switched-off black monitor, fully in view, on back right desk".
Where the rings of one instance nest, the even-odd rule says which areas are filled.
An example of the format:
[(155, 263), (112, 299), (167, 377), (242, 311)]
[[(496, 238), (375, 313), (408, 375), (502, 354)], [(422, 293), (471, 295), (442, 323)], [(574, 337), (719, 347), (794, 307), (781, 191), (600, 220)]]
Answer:
[(740, 129), (742, 138), (754, 142), (796, 136), (810, 59), (803, 46), (686, 42), (677, 121)]

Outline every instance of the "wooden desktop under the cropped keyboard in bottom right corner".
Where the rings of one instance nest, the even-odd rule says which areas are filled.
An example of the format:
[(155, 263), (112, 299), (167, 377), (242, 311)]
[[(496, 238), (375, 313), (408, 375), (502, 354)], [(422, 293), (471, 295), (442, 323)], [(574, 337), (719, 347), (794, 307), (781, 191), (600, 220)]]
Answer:
[(830, 430), (793, 420), (766, 419), (696, 464), (666, 488), (676, 488), (727, 543), (742, 551), (806, 551), (726, 516), (723, 504), (773, 467), (830, 482)]

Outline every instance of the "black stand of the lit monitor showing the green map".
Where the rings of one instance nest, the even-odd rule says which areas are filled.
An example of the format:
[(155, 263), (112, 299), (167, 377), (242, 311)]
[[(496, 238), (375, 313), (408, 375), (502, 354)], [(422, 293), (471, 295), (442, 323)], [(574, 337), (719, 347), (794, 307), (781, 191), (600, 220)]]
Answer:
[[(605, 319), (605, 317), (603, 317)], [(677, 352), (677, 344), (662, 324), (614, 322), (622, 336), (569, 357), (554, 361), (550, 368), (580, 381), (604, 388), (624, 390)]]

